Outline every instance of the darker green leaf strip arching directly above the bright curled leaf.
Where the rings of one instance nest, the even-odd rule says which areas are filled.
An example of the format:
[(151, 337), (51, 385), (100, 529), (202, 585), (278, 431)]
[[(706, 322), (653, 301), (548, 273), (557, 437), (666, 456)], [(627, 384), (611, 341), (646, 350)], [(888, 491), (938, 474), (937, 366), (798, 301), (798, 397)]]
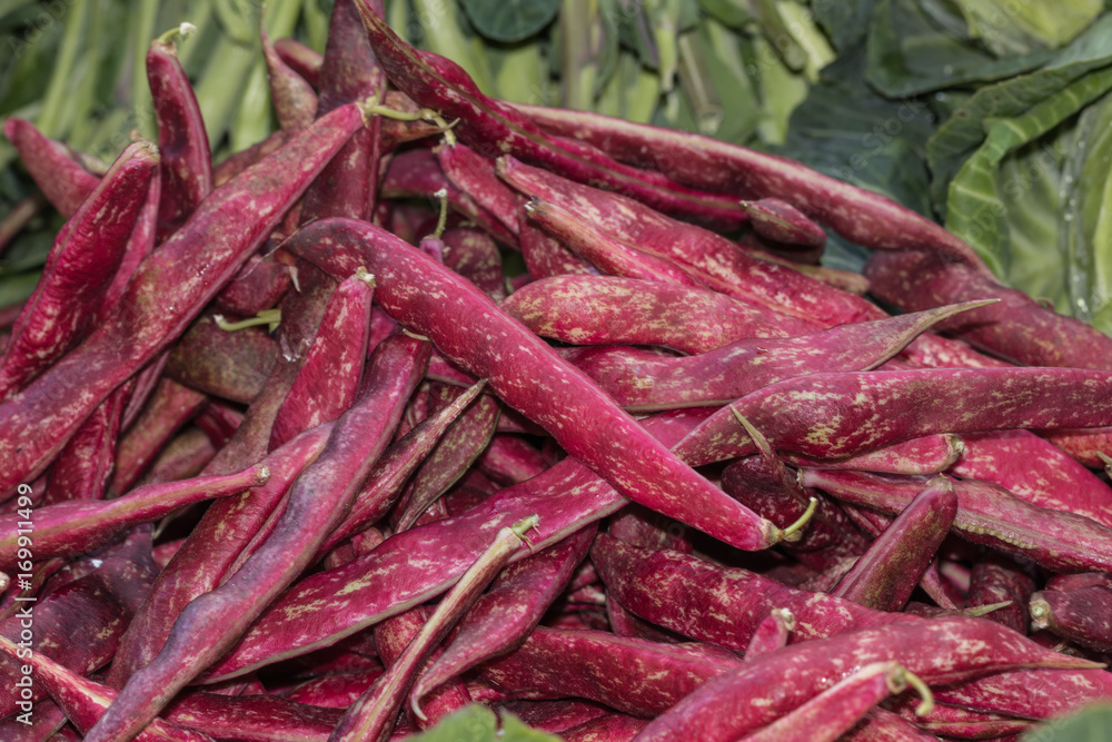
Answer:
[(977, 90), (927, 144), (935, 209), (944, 212), (950, 181), (984, 141), (986, 119), (1022, 116), (1074, 80), (1109, 65), (1112, 65), (1112, 16), (1104, 16), (1042, 69)]

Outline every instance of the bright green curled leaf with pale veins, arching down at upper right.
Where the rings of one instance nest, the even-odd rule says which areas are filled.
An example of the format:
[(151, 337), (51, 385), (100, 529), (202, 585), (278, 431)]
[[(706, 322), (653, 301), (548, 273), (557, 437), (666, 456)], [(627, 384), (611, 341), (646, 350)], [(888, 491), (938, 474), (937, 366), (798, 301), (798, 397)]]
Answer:
[(969, 243), (997, 277), (1011, 271), (1012, 255), (1000, 164), (1112, 89), (1112, 68), (1092, 72), (1033, 106), (1023, 116), (986, 121), (989, 136), (950, 184), (946, 228)]

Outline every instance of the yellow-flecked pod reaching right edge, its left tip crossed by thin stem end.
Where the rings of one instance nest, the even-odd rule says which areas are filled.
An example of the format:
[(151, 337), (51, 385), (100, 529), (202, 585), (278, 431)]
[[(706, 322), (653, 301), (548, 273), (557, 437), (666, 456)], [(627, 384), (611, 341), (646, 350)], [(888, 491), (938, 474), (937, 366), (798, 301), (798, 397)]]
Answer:
[[(1112, 422), (1112, 372), (1074, 368), (926, 368), (812, 374), (729, 405), (777, 449), (842, 458), (934, 433)], [(677, 453), (698, 466), (752, 453), (731, 408)]]

